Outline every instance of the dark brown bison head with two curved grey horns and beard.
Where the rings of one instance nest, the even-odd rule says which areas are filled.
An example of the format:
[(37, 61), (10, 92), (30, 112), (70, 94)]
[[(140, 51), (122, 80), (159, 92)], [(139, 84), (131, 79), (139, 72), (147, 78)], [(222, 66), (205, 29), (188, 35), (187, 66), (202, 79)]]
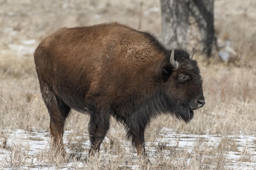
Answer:
[[(169, 53), (170, 54), (170, 53)], [(183, 50), (171, 50), (170, 60), (162, 67), (164, 88), (171, 101), (171, 112), (178, 118), (189, 122), (193, 118), (193, 110), (205, 104), (202, 77), (198, 64), (192, 60), (194, 48), (189, 55)]]

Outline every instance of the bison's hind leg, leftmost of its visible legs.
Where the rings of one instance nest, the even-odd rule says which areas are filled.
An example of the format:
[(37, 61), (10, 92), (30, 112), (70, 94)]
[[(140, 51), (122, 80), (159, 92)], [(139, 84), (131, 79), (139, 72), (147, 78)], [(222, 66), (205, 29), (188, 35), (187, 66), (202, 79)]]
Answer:
[(53, 140), (53, 150), (61, 152), (65, 157), (66, 152), (63, 145), (63, 133), (65, 119), (70, 113), (67, 106), (46, 83), (40, 83), (41, 93), (50, 116), (50, 135)]

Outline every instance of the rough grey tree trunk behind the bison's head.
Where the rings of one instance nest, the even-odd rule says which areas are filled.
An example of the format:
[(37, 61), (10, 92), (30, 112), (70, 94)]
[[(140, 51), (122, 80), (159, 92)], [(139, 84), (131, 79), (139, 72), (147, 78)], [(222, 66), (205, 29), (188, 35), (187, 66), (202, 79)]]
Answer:
[(215, 49), (213, 0), (160, 0), (163, 43), (168, 48), (191, 50), (208, 57)]

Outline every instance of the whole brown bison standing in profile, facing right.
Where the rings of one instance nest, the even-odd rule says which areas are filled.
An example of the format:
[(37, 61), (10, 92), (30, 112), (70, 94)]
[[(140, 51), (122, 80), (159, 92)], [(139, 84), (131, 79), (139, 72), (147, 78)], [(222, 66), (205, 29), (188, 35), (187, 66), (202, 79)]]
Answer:
[(73, 108), (90, 115), (89, 154), (99, 151), (111, 115), (124, 124), (137, 154), (145, 154), (144, 130), (152, 118), (170, 114), (189, 122), (204, 106), (193, 54), (167, 50), (150, 33), (116, 22), (49, 35), (34, 59), (54, 143), (65, 152), (63, 126)]

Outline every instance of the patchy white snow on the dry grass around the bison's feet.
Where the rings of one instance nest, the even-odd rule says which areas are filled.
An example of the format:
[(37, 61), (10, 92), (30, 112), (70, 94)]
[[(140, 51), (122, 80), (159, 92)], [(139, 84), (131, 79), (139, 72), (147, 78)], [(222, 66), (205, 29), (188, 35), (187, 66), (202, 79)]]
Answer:
[[(7, 146), (9, 148), (0, 148), (0, 169), (1, 170), (11, 170), (13, 169), (12, 166), (9, 165), (9, 163), (12, 161), (13, 165), (15, 165), (15, 161), (23, 161), (24, 165), (19, 167), (20, 169), (55, 169), (55, 165), (53, 164), (45, 164), (40, 163), (40, 160), (37, 160), (35, 155), (38, 154), (38, 152), (42, 152), (43, 150), (49, 149), (49, 132), (29, 132), (26, 130), (7, 130), (7, 131), (0, 131), (1, 133), (4, 133), (4, 136), (7, 136)], [(64, 144), (67, 144), (66, 137), (71, 134), (72, 131), (65, 131), (64, 135)], [(89, 137), (88, 134), (84, 134), (85, 141), (83, 142), (83, 147), (85, 148), (85, 152), (82, 153), (83, 156), (87, 155), (87, 152), (89, 150)], [(237, 151), (234, 152), (227, 152), (226, 159), (229, 160), (228, 167), (239, 169), (239, 170), (255, 170), (256, 167), (256, 149), (255, 149), (255, 141), (256, 136), (249, 136), (249, 135), (240, 135), (240, 136), (227, 136), (230, 140), (235, 140), (235, 144), (237, 146)], [(196, 146), (196, 143), (200, 140), (202, 141), (202, 144), (205, 143), (208, 147), (217, 147), (220, 144), (222, 137), (220, 135), (192, 135), (192, 134), (177, 134), (173, 132), (171, 129), (163, 128), (160, 131), (159, 138), (155, 142), (155, 144), (146, 142), (146, 150), (148, 152), (148, 155), (150, 157), (150, 161), (154, 162), (156, 155), (155, 155), (155, 147), (150, 146), (159, 146), (159, 144), (164, 144), (166, 147), (178, 147), (179, 149), (184, 149), (187, 152), (189, 152), (191, 155), (193, 155), (193, 149)], [(108, 138), (106, 137), (105, 141), (108, 142)], [(3, 139), (1, 139), (1, 142)], [(130, 141), (121, 141), (121, 145), (123, 148), (126, 148), (127, 150), (130, 150)], [(16, 150), (12, 148), (18, 149)], [(246, 161), (239, 161), (241, 157), (242, 152), (248, 152), (249, 155), (251, 155), (251, 159), (248, 159), (249, 162)], [(69, 150), (67, 149), (67, 152)], [(23, 154), (16, 155), (16, 154)], [(104, 150), (101, 150), (101, 154), (104, 153)], [(130, 153), (131, 157), (135, 157), (136, 159), (136, 152)], [(27, 155), (27, 156), (24, 156)], [(33, 156), (34, 155), (34, 156)], [(115, 155), (113, 155), (114, 157)], [(16, 160), (16, 157), (19, 157), (19, 160)], [(21, 160), (20, 160), (21, 159)], [(245, 159), (247, 160), (247, 159)], [(189, 161), (189, 160), (188, 160)], [(241, 163), (242, 162), (242, 163)], [(77, 165), (76, 165), (77, 166)], [(80, 167), (85, 167), (83, 163), (79, 164)], [(57, 167), (58, 169), (67, 170), (70, 167), (72, 167), (72, 162), (67, 163), (62, 166), (62, 168)], [(127, 168), (137, 169), (138, 167), (135, 166), (127, 166)]]

